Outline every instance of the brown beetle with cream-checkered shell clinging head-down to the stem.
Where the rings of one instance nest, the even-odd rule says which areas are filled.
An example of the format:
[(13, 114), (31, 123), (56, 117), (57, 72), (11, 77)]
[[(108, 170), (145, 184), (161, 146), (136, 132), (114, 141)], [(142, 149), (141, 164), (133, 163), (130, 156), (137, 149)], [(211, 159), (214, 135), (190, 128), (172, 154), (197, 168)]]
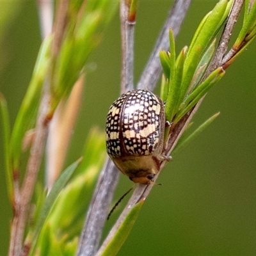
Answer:
[(116, 167), (133, 182), (150, 184), (163, 160), (163, 101), (147, 90), (131, 90), (110, 106), (106, 148)]

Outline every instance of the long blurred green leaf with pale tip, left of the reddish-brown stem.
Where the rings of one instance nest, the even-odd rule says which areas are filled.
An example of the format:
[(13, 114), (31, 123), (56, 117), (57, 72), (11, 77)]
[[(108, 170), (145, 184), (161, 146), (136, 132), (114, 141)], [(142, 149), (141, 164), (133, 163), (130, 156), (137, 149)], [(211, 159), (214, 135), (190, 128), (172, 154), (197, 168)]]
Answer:
[(35, 125), (36, 113), (42, 92), (42, 84), (50, 63), (51, 42), (52, 37), (49, 36), (45, 38), (40, 47), (28, 90), (15, 120), (10, 140), (10, 157), (12, 159), (13, 170), (19, 170), (24, 134)]

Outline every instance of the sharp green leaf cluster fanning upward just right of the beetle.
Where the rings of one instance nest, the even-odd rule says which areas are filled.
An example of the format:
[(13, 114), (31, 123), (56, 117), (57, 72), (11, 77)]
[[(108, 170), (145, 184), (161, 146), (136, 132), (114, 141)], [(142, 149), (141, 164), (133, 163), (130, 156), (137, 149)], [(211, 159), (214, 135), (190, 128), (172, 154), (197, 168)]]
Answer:
[(220, 1), (216, 4), (196, 29), (189, 47), (184, 47), (177, 58), (170, 29), (170, 52), (160, 52), (165, 77), (161, 97), (166, 101), (166, 120), (169, 122), (177, 124), (224, 76), (225, 71), (218, 67), (204, 79), (215, 52), (215, 37), (227, 19), (231, 6), (232, 1)]

